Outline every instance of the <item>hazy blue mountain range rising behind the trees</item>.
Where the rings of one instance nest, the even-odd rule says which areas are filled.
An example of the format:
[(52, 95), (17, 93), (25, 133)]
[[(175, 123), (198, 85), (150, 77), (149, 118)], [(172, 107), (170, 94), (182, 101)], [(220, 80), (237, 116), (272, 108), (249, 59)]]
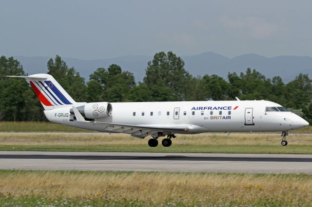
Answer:
[[(216, 74), (224, 78), (228, 72), (244, 72), (247, 68), (256, 69), (267, 78), (279, 75), (285, 83), (293, 80), (299, 73), (307, 73), (312, 78), (312, 57), (309, 56), (276, 56), (267, 58), (249, 53), (229, 58), (214, 52), (198, 55), (181, 56), (187, 69), (194, 76)], [(46, 73), (50, 57), (15, 56), (28, 74)], [(53, 57), (54, 58), (54, 57)], [(142, 81), (148, 61), (153, 57), (144, 55), (127, 55), (99, 60), (81, 60), (62, 57), (69, 67), (74, 67), (86, 80), (100, 67), (108, 68), (111, 64), (119, 65), (123, 70), (133, 72), (137, 81)]]

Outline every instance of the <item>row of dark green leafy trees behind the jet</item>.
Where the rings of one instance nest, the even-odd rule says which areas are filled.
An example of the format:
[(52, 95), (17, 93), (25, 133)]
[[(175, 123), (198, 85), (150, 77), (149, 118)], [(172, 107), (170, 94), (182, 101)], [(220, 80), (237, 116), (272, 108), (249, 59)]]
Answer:
[[(279, 76), (266, 78), (250, 68), (240, 74), (229, 72), (227, 79), (215, 74), (194, 77), (173, 52), (156, 53), (138, 83), (133, 73), (116, 64), (96, 69), (85, 82), (59, 55), (47, 62), (47, 69), (76, 102), (219, 101), (238, 97), (276, 102), (312, 123), (312, 80), (307, 74), (300, 73), (287, 84)], [(5, 75), (26, 74), (18, 60), (0, 57), (0, 121), (46, 121), (28, 83)]]

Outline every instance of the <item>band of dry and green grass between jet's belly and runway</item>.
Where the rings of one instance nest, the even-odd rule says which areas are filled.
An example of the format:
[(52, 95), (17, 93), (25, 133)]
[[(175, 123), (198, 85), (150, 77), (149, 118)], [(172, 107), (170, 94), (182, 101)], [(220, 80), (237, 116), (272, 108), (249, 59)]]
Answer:
[(206, 133), (178, 135), (170, 147), (149, 147), (149, 138), (105, 133), (0, 133), (0, 150), (89, 152), (194, 152), (312, 154), (310, 134), (291, 134), (288, 146), (280, 134)]

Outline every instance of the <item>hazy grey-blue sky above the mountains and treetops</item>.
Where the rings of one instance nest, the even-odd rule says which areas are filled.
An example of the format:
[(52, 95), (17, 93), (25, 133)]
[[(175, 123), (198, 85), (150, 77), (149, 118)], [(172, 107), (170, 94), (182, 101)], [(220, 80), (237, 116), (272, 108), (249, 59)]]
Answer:
[(1, 0), (0, 55), (312, 56), (309, 0)]

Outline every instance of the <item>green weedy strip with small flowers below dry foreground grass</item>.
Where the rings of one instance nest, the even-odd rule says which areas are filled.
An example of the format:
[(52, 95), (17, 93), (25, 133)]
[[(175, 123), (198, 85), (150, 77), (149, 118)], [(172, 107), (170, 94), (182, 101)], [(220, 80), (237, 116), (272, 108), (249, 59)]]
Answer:
[(164, 200), (162, 204), (151, 204), (137, 200), (120, 199), (111, 201), (106, 199), (47, 199), (42, 197), (5, 197), (0, 198), (0, 207), (311, 207), (310, 203), (301, 201), (296, 204), (285, 202), (283, 199), (261, 198), (256, 199), (251, 204), (242, 205), (240, 202), (223, 201), (218, 203), (192, 201), (184, 203), (181, 201)]

